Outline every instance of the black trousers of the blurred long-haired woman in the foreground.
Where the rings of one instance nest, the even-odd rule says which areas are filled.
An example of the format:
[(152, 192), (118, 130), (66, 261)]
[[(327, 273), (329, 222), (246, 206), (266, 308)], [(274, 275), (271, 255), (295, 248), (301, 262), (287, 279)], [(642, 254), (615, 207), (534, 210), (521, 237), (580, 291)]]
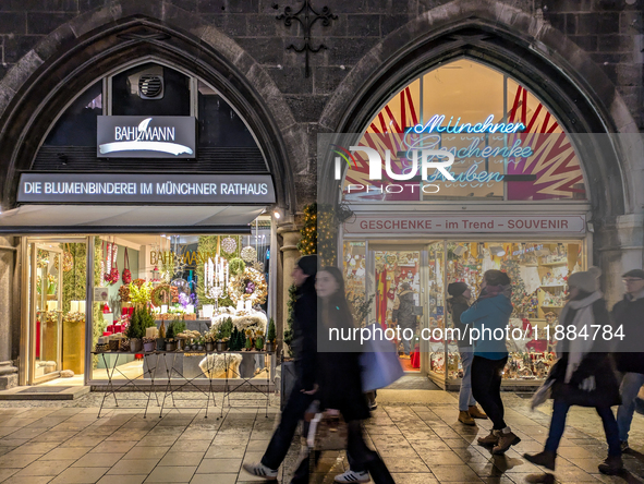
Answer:
[[(313, 451), (313, 464), (317, 465), (321, 452), (319, 450)], [(376, 484), (394, 484), (393, 477), (389, 473), (387, 465), (380, 459), (380, 456), (367, 447), (362, 436), (362, 424), (360, 421), (351, 421), (348, 423), (348, 438), (347, 438), (347, 460), (349, 460), (349, 468), (354, 472), (368, 471)], [(300, 462), (300, 467), (293, 474), (291, 484), (306, 484), (308, 483), (308, 475), (311, 470), (311, 459), (304, 458)]]

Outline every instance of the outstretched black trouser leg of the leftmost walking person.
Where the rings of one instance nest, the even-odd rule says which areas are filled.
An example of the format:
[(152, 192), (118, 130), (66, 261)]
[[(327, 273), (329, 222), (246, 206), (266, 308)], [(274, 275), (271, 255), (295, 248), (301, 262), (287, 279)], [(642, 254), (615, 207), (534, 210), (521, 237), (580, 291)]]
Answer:
[(304, 419), (306, 409), (315, 399), (315, 395), (305, 395), (301, 390), (302, 388), (297, 385), (293, 387), (282, 412), (280, 424), (272, 434), (268, 448), (262, 458), (262, 463), (268, 469), (279, 469), (287, 457), (289, 447), (291, 447), (297, 424)]

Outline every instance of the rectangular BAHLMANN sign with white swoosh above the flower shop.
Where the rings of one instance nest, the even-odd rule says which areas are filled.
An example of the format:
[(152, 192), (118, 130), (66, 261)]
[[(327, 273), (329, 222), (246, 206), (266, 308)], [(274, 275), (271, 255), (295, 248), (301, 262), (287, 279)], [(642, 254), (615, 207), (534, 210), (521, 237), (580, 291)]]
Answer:
[(99, 158), (194, 158), (192, 116), (99, 116)]

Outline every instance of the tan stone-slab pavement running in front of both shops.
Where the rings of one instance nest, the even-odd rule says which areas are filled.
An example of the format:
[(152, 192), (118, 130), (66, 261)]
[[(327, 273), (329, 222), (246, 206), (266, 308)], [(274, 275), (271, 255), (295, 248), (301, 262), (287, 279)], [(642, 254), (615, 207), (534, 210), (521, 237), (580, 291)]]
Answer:
[[(397, 397), (392, 403), (384, 398), (385, 403), (365, 425), (369, 445), (380, 452), (396, 482), (502, 484), (543, 479), (542, 470), (521, 456), (543, 448), (549, 423), (547, 406), (531, 412), (530, 400), (503, 395), (508, 424), (522, 441), (505, 456), (493, 457), (476, 445), (476, 437), (488, 433), (489, 421), (478, 421), (477, 427), (460, 424), (453, 395), (430, 391), (424, 403), (411, 404), (403, 403), (404, 390)], [(279, 421), (278, 406), (271, 406), (266, 418), (265, 409), (252, 408), (262, 404), (252, 394), (240, 397), (239, 408), (226, 408), (221, 419), (217, 419), (220, 408), (211, 409), (208, 419), (203, 410), (191, 409), (171, 410), (159, 419), (158, 408), (147, 419), (137, 409), (109, 410), (97, 419), (100, 398), (101, 394), (90, 394), (70, 402), (1, 402), (0, 482), (256, 482), (241, 471), (241, 464), (259, 460)], [(597, 471), (606, 445), (593, 410), (574, 408), (563, 437), (555, 472), (558, 482), (642, 482), (641, 415), (635, 415), (631, 435), (635, 452), (624, 457), (630, 472), (623, 476), (609, 477)], [(280, 470), (280, 482), (289, 482), (299, 449), (295, 441)], [(343, 452), (327, 452), (312, 482), (330, 483), (344, 469)]]

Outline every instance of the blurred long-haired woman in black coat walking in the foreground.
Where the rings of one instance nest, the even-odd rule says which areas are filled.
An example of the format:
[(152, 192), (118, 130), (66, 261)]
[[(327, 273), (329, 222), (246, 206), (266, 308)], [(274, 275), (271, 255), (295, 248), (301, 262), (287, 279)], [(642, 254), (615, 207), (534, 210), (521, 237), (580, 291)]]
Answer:
[[(329, 335), (330, 328), (353, 328), (353, 317), (344, 293), (342, 273), (337, 267), (325, 267), (316, 276), (318, 302), (318, 338)], [(328, 342), (327, 342), (328, 343)], [(340, 474), (336, 482), (368, 482), (368, 473), (376, 484), (393, 484), (393, 479), (377, 452), (370, 450), (362, 436), (362, 422), (369, 418), (367, 400), (362, 391), (360, 352), (353, 341), (338, 342), (338, 352), (319, 353), (316, 397), (324, 410), (336, 410), (348, 425), (347, 453), (351, 455), (351, 472)], [(333, 341), (336, 344), (336, 341)], [(367, 473), (368, 472), (368, 473)]]

